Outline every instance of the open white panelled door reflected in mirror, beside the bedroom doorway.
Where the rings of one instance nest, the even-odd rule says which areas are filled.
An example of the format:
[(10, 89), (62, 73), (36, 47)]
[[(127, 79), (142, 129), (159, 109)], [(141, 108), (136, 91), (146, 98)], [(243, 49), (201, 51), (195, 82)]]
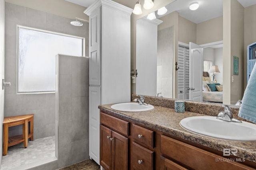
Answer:
[(189, 43), (189, 100), (202, 102), (203, 47)]

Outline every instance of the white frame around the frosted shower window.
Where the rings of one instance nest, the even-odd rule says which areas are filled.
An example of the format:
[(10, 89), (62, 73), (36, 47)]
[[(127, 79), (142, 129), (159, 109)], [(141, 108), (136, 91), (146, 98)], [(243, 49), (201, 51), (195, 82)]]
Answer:
[(17, 47), (17, 57), (16, 57), (16, 73), (17, 73), (17, 86), (16, 86), (16, 90), (17, 90), (17, 94), (46, 94), (46, 93), (55, 93), (55, 90), (54, 91), (40, 91), (40, 92), (19, 92), (18, 90), (18, 83), (19, 83), (19, 80), (18, 80), (18, 59), (19, 59), (19, 45), (18, 45), (18, 42), (19, 42), (19, 28), (24, 28), (24, 29), (31, 29), (33, 31), (41, 31), (41, 32), (44, 32), (44, 33), (52, 33), (52, 34), (56, 34), (56, 35), (63, 35), (63, 36), (67, 36), (67, 37), (73, 37), (73, 38), (79, 38), (79, 39), (82, 39), (82, 56), (85, 57), (85, 37), (78, 37), (78, 36), (75, 36), (75, 35), (69, 35), (69, 34), (65, 34), (65, 33), (58, 33), (58, 32), (54, 32), (54, 31), (48, 31), (48, 30), (44, 30), (44, 29), (37, 29), (37, 28), (32, 28), (32, 27), (26, 27), (26, 26), (23, 26), (23, 25), (17, 25), (16, 27), (16, 47)]

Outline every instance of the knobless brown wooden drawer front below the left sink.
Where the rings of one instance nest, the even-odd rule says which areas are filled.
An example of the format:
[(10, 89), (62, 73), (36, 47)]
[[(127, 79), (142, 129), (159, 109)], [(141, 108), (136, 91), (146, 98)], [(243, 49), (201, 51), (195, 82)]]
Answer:
[(129, 136), (129, 122), (100, 112), (100, 124), (111, 127), (112, 130)]

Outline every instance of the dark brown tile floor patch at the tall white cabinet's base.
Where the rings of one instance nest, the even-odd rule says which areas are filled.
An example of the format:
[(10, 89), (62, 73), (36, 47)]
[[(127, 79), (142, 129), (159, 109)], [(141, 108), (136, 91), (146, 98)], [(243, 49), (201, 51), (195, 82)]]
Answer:
[(100, 170), (100, 166), (94, 160), (87, 159), (59, 170)]

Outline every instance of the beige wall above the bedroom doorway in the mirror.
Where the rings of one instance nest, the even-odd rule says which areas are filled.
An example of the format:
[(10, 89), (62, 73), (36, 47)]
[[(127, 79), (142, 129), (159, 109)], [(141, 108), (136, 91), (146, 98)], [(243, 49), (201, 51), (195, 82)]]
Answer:
[(206, 44), (223, 40), (223, 17), (217, 17), (196, 25), (196, 43)]

